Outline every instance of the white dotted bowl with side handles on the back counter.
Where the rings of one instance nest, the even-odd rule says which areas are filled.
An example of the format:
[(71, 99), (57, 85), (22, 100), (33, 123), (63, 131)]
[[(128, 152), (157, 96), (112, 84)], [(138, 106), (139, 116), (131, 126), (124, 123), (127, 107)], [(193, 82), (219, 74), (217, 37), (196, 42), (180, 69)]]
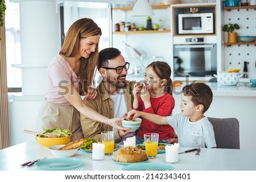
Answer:
[(243, 74), (238, 72), (218, 72), (217, 75), (214, 74), (213, 76), (217, 78), (217, 82), (222, 86), (234, 86), (237, 85), (239, 78), (241, 78)]

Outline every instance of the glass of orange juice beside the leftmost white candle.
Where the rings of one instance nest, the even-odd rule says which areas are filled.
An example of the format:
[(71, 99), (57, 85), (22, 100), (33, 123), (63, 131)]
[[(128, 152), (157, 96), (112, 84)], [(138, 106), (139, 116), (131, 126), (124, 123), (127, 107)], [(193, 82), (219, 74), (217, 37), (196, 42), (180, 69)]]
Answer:
[(105, 155), (112, 155), (115, 145), (115, 132), (105, 131), (101, 132), (102, 143), (105, 145)]

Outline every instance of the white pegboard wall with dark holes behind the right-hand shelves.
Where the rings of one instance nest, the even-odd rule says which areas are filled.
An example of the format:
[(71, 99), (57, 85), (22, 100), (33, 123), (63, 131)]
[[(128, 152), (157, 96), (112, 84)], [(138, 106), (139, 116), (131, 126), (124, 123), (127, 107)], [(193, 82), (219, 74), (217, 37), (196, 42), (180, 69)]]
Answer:
[[(240, 29), (236, 29), (238, 36), (256, 36), (256, 10), (240, 9), (225, 11), (225, 24), (237, 23)], [(225, 32), (225, 42), (228, 40)], [(249, 64), (248, 76), (256, 78), (256, 46), (255, 45), (232, 45), (225, 47), (225, 69), (229, 66), (240, 68), (243, 73), (244, 62)]]

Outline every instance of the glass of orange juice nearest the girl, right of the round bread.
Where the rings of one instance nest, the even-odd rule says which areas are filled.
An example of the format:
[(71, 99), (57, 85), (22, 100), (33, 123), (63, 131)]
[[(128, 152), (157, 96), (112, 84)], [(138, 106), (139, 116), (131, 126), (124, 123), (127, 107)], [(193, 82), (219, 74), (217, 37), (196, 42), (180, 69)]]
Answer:
[(158, 133), (145, 133), (144, 143), (146, 147), (146, 154), (148, 158), (156, 158), (158, 155)]

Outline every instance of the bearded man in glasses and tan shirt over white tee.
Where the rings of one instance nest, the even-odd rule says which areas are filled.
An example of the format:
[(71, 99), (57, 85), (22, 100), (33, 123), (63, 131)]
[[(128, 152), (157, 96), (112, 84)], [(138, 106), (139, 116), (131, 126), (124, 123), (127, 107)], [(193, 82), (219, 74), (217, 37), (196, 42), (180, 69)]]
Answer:
[[(133, 84), (136, 83), (126, 81), (129, 65), (118, 49), (101, 50), (98, 71), (102, 81), (97, 87), (98, 95), (93, 100), (84, 100), (84, 103), (108, 118), (123, 117), (129, 112), (133, 103)], [(112, 126), (90, 120), (84, 115), (80, 116), (80, 121), (85, 138), (90, 137), (101, 141), (101, 132), (113, 130)], [(122, 141), (127, 133), (129, 132), (115, 130), (115, 142)]]

